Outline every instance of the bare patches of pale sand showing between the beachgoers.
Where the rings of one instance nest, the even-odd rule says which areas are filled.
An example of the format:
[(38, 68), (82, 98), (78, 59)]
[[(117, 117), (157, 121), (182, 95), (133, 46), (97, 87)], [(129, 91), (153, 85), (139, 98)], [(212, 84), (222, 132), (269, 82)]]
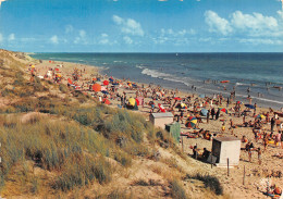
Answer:
[[(36, 69), (36, 75), (37, 76), (45, 76), (47, 71), (49, 69), (56, 69), (58, 67), (60, 71), (60, 74), (64, 77), (62, 79), (62, 84), (67, 84), (67, 78), (72, 78), (72, 73), (74, 72), (75, 69), (78, 69), (79, 73), (82, 71), (82, 77), (79, 80), (77, 80), (77, 85), (82, 86), (84, 84), (83, 90), (85, 90), (86, 92), (91, 94), (91, 91), (87, 91), (88, 89), (88, 84), (87, 82), (89, 82), (91, 78), (97, 77), (97, 76), (101, 76), (102, 80), (108, 79), (109, 77), (104, 77), (101, 74), (99, 74), (99, 69), (95, 67), (95, 66), (89, 66), (89, 65), (83, 65), (83, 64), (76, 64), (76, 63), (67, 63), (67, 62), (49, 62), (49, 61), (42, 61), (42, 63), (38, 63), (35, 62), (35, 69)], [(62, 65), (62, 67), (58, 66), (58, 65)], [(28, 73), (30, 73), (28, 71), (28, 66), (26, 70)], [(126, 94), (127, 98), (128, 97), (135, 97), (136, 96), (136, 89), (128, 89), (126, 86), (126, 80), (123, 82), (121, 80), (122, 86), (119, 87), (119, 94), (123, 95), (123, 92)], [(101, 83), (102, 84), (102, 83)], [(140, 84), (137, 83), (138, 86), (142, 86)], [(145, 88), (148, 88), (149, 85), (144, 85)], [(156, 87), (156, 86), (151, 86)], [(170, 90), (172, 91), (172, 90)], [(169, 91), (169, 94), (170, 94)], [(100, 97), (102, 97), (102, 94), (99, 94)], [(167, 95), (172, 97), (172, 95)], [(193, 100), (196, 99), (196, 96), (193, 98), (192, 94), (187, 94), (187, 92), (177, 92), (176, 94), (177, 97), (181, 98), (185, 98), (190, 96)], [(149, 94), (148, 97), (151, 97), (151, 95)], [(150, 112), (150, 107), (147, 104), (149, 101), (151, 101), (151, 98), (145, 98), (145, 105), (138, 107), (138, 112), (140, 112), (143, 115), (145, 115), (147, 119), (149, 116), (149, 112)], [(200, 99), (200, 101), (204, 101), (204, 99)], [(121, 104), (121, 101), (118, 100), (118, 98), (115, 99), (110, 99), (111, 102), (111, 107), (113, 108), (118, 108), (119, 104)], [(164, 103), (163, 101), (160, 100), (156, 100), (155, 101), (156, 104), (157, 103)], [(226, 105), (226, 103), (223, 103), (224, 105)], [(229, 105), (229, 110), (234, 107), (235, 103), (230, 104)], [(168, 105), (164, 105), (165, 108), (168, 108)], [(216, 105), (217, 108), (217, 105)], [(242, 105), (242, 108), (244, 108), (244, 105)], [(155, 110), (155, 112), (158, 109)], [(188, 108), (187, 110), (192, 110), (190, 108)], [(187, 110), (185, 112), (185, 116), (187, 115)], [(175, 109), (174, 110), (175, 114), (180, 114), (180, 112)], [(269, 109), (267, 108), (258, 108), (257, 109), (257, 114), (259, 113), (266, 113), (268, 112)], [(192, 114), (192, 113), (189, 113)], [(246, 121), (255, 121), (255, 117), (253, 117), (253, 112), (250, 113), (251, 115), (248, 115), (246, 117)], [(271, 114), (272, 116), (272, 114)], [(233, 120), (234, 124), (242, 124), (243, 123), (243, 117), (237, 117), (234, 116), (233, 114), (226, 114), (221, 112), (220, 119), (218, 121), (216, 120), (210, 120), (209, 123), (206, 122), (206, 120), (204, 119), (202, 123), (199, 123), (198, 128), (196, 130), (199, 130), (199, 128), (204, 128), (205, 130), (210, 130), (210, 133), (221, 133), (221, 126), (222, 126), (222, 122), (221, 120), (225, 121), (225, 130), (224, 133), (221, 133), (222, 136), (236, 136), (238, 138), (242, 138), (244, 135), (254, 142), (255, 147), (258, 148), (260, 147), (261, 150), (263, 150), (263, 140), (260, 139), (258, 142), (256, 142), (255, 140), (255, 136), (253, 134), (253, 128), (251, 127), (236, 127), (233, 128), (233, 132), (231, 129), (229, 129), (230, 125), (229, 125), (229, 121)], [(184, 117), (184, 123), (185, 123), (186, 117)], [(282, 119), (281, 119), (282, 121)], [(266, 129), (267, 133), (270, 133), (270, 124), (263, 124), (263, 129)], [(187, 128), (185, 127), (184, 124), (182, 124), (182, 132), (183, 133), (193, 133), (195, 129), (192, 128)], [(276, 127), (275, 127), (275, 132), (276, 132)], [(192, 146), (197, 145), (199, 149), (202, 148), (207, 148), (208, 150), (211, 150), (211, 146), (212, 146), (212, 141), (211, 140), (207, 140), (204, 138), (186, 138), (183, 137), (183, 144), (184, 144), (184, 152), (187, 153), (188, 156), (193, 154), (193, 150), (190, 149)], [(182, 145), (180, 144), (180, 147), (182, 147)], [(244, 148), (245, 145), (242, 144), (242, 147)], [(267, 179), (268, 176), (270, 176), (270, 182), (272, 182), (271, 184), (276, 184), (278, 186), (280, 186), (281, 188), (283, 188), (283, 159), (280, 159), (278, 157), (275, 157), (275, 154), (283, 154), (283, 149), (282, 147), (279, 146), (274, 146), (274, 145), (270, 145), (268, 146), (268, 150), (262, 152), (262, 163), (261, 165), (259, 165), (258, 163), (258, 156), (256, 151), (253, 151), (253, 157), (251, 157), (251, 162), (248, 161), (248, 153), (245, 152), (244, 150), (241, 151), (241, 161), (239, 161), (239, 165), (237, 167), (233, 167), (230, 170), (230, 176), (227, 176), (227, 171), (226, 169), (221, 169), (221, 167), (216, 167), (213, 166), (211, 169), (210, 164), (208, 163), (202, 163), (200, 161), (196, 161), (197, 164), (199, 164), (199, 166), (204, 166), (207, 170), (208, 174), (212, 174), (216, 175), (217, 177), (219, 177), (221, 184), (224, 187), (224, 192), (229, 194), (231, 196), (231, 198), (267, 198), (262, 192), (266, 191), (266, 187), (267, 187)], [(244, 176), (244, 166), (246, 170), (246, 176), (245, 176), (245, 185), (243, 185), (243, 176)]]

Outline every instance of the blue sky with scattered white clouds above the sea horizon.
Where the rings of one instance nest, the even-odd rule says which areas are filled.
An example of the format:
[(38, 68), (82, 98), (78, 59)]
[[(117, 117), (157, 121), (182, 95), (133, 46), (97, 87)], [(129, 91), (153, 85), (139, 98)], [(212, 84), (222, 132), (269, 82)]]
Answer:
[(283, 52), (283, 0), (0, 0), (0, 48)]

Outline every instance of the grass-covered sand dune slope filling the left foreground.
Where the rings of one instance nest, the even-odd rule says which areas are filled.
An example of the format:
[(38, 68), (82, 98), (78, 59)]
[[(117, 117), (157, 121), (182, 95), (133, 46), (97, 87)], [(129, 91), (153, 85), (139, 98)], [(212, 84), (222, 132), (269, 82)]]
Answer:
[(0, 51), (0, 196), (223, 198), (217, 178), (189, 173), (196, 163), (168, 133), (63, 85), (29, 83), (21, 59)]

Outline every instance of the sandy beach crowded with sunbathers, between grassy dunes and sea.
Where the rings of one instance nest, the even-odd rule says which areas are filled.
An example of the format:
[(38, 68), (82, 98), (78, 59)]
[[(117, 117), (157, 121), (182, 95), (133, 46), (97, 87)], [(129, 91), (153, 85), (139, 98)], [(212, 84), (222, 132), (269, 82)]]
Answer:
[[(32, 66), (34, 65), (34, 66)], [(77, 90), (82, 90), (84, 94), (89, 94), (94, 96), (94, 98), (97, 98), (98, 100), (101, 100), (102, 102), (107, 101), (110, 102), (110, 107), (121, 109), (121, 98), (123, 96), (126, 96), (125, 103), (128, 103), (128, 99), (131, 97), (144, 97), (144, 104), (138, 105), (138, 112), (140, 112), (143, 115), (145, 115), (147, 119), (150, 114), (151, 107), (150, 101), (153, 101), (156, 104), (156, 108), (153, 109), (153, 112), (160, 112), (160, 109), (158, 108), (158, 103), (162, 104), (164, 109), (169, 112), (172, 112), (175, 116), (175, 120), (180, 120), (181, 117), (181, 109), (175, 108), (177, 103), (185, 103), (187, 109), (182, 109), (183, 111), (183, 121), (180, 120), (181, 123), (181, 130), (182, 133), (188, 133), (189, 135), (197, 135), (196, 133), (200, 129), (209, 130), (209, 134), (214, 134), (218, 137), (223, 136), (233, 136), (237, 137), (239, 139), (243, 138), (243, 136), (246, 137), (247, 140), (251, 141), (254, 145), (253, 150), (250, 151), (251, 160), (249, 161), (249, 156), (246, 150), (241, 150), (241, 161), (239, 165), (236, 167), (231, 169), (230, 176), (227, 176), (226, 169), (220, 169), (216, 166), (211, 166), (209, 163), (204, 163), (201, 161), (197, 161), (200, 166), (204, 166), (207, 169), (207, 173), (213, 174), (219, 177), (220, 182), (224, 186), (224, 191), (229, 194), (232, 198), (267, 198), (267, 196), (263, 195), (263, 192), (267, 190), (267, 181), (269, 181), (269, 185), (276, 185), (281, 188), (283, 188), (283, 146), (280, 146), (278, 144), (274, 145), (274, 137), (282, 128), (280, 128), (280, 124), (282, 123), (282, 117), (276, 117), (276, 124), (274, 127), (274, 133), (271, 135), (270, 144), (267, 147), (267, 150), (264, 150), (263, 146), (263, 133), (267, 133), (267, 136), (270, 136), (271, 134), (271, 124), (270, 120), (274, 116), (274, 112), (280, 110), (273, 110), (273, 112), (268, 108), (257, 108), (256, 112), (254, 109), (251, 109), (249, 112), (246, 112), (245, 122), (247, 122), (247, 127), (244, 127), (243, 125), (243, 116), (235, 115), (235, 105), (236, 101), (230, 101), (229, 104), (226, 104), (226, 99), (222, 100), (222, 104), (216, 104), (216, 101), (220, 98), (216, 98), (213, 102), (209, 98), (200, 98), (196, 94), (188, 94), (188, 92), (181, 92), (179, 90), (168, 90), (164, 88), (160, 88), (157, 85), (146, 85), (146, 84), (139, 84), (136, 83), (137, 86), (133, 87), (134, 83), (127, 83), (127, 80), (123, 79), (114, 79), (113, 82), (119, 82), (119, 86), (114, 87), (115, 89), (112, 91), (110, 90), (111, 84), (109, 86), (106, 86), (107, 83), (103, 82), (107, 80), (109, 83), (109, 76), (104, 76), (100, 74), (99, 69), (95, 66), (89, 65), (82, 65), (76, 63), (67, 63), (67, 62), (58, 62), (58, 61), (42, 61), (41, 63), (35, 62), (34, 64), (30, 64), (29, 66), (26, 66), (26, 72), (30, 74), (30, 71), (35, 70), (35, 75), (39, 76), (40, 78), (46, 78), (49, 80), (54, 80), (56, 74), (59, 77), (58, 84), (64, 84), (69, 86), (72, 86), (70, 83), (70, 79), (72, 80), (72, 84), (74, 88)], [(50, 72), (48, 72), (50, 71)], [(74, 72), (76, 71), (78, 79), (74, 80)], [(51, 75), (48, 76), (48, 73)], [(98, 78), (100, 80), (98, 80)], [(95, 94), (91, 91), (91, 86), (94, 84), (100, 84), (102, 85), (102, 88), (106, 89), (106, 91), (109, 92), (109, 95), (104, 95), (101, 91)], [(107, 94), (107, 92), (106, 92)], [(174, 100), (175, 97), (180, 97), (181, 100)], [(109, 103), (107, 102), (107, 103)], [(238, 102), (239, 103), (239, 102)], [(194, 108), (195, 107), (195, 108)], [(214, 108), (216, 110), (219, 108), (225, 108), (227, 110), (227, 113), (220, 112), (219, 120), (211, 120), (211, 116), (209, 120), (207, 120), (206, 116), (198, 116), (199, 111), (201, 109), (211, 110)], [(246, 107), (244, 104), (241, 104), (241, 113), (246, 110)], [(196, 111), (198, 115), (196, 115), (193, 111)], [(254, 126), (254, 123), (256, 121), (257, 115), (263, 114), (267, 116), (267, 113), (269, 115), (269, 119), (266, 117), (261, 119), (258, 123), (260, 128), (249, 127), (251, 124)], [(181, 116), (177, 116), (181, 115)], [(185, 126), (187, 116), (197, 116), (199, 117), (199, 122), (197, 123), (196, 128), (188, 128)], [(278, 115), (275, 115), (278, 116)], [(231, 124), (231, 120), (233, 124)], [(248, 124), (250, 121), (250, 124)], [(233, 126), (231, 128), (231, 125)], [(225, 126), (224, 129), (222, 126)], [(257, 129), (260, 129), (259, 139), (255, 139), (254, 132)], [(195, 133), (195, 134), (194, 134)], [(204, 148), (207, 148), (209, 151), (211, 150), (212, 141), (208, 139), (204, 139), (202, 135), (199, 134), (199, 136), (195, 136), (195, 138), (188, 138), (187, 136), (182, 136), (183, 138), (183, 150), (188, 156), (193, 156), (192, 148), (197, 145), (199, 152), (202, 152)], [(193, 136), (194, 137), (194, 136)], [(242, 148), (244, 149), (246, 147), (247, 142), (242, 142)], [(282, 145), (282, 144), (281, 144)], [(182, 145), (180, 144), (180, 147), (182, 148)], [(259, 164), (258, 159), (258, 152), (257, 149), (260, 148), (261, 150), (261, 164)], [(243, 183), (244, 177), (244, 167), (245, 167), (245, 184)], [(272, 188), (272, 187), (271, 187)]]

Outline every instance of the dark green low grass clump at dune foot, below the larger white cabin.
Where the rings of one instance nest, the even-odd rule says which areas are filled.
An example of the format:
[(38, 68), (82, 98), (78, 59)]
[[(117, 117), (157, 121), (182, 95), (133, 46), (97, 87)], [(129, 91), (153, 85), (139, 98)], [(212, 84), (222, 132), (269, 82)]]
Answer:
[(211, 175), (201, 175), (197, 173), (196, 175), (186, 175), (185, 179), (198, 179), (205, 183), (205, 186), (216, 192), (216, 195), (223, 195), (223, 187), (220, 184), (219, 179), (216, 176)]

